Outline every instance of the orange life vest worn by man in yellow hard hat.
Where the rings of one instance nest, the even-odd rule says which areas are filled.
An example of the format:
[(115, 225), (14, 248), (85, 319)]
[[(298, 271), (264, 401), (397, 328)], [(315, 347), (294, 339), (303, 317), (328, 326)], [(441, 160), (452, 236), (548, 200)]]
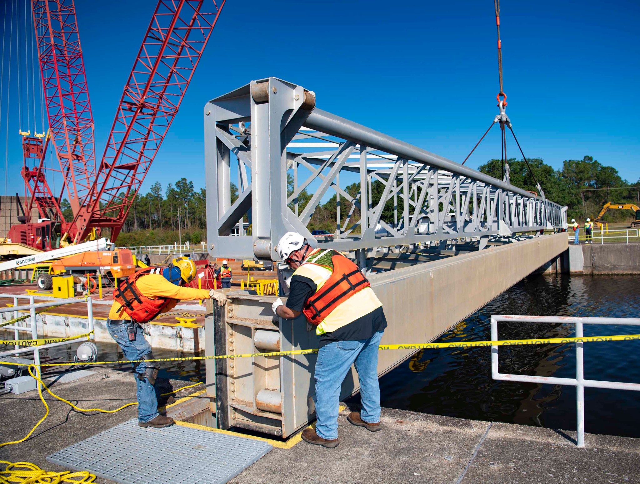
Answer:
[(164, 267), (148, 267), (138, 270), (127, 277), (113, 291), (113, 299), (122, 305), (122, 311), (127, 313), (132, 321), (148, 323), (156, 318), (171, 301), (168, 297), (150, 299), (143, 295), (136, 286), (136, 281), (147, 274), (162, 274)]

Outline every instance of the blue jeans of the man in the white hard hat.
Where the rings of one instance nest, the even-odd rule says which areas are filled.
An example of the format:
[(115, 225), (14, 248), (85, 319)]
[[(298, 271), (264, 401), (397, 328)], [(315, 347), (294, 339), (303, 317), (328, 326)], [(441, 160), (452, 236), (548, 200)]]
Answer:
[(360, 380), (360, 418), (380, 422), (378, 346), (384, 331), (367, 340), (334, 341), (318, 351), (316, 362), (316, 433), (323, 439), (338, 438), (340, 386), (355, 363)]

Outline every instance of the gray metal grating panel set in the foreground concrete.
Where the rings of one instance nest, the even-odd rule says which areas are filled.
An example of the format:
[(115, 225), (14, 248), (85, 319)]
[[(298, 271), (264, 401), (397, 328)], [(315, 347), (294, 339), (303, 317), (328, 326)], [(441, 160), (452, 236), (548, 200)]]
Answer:
[(142, 428), (132, 419), (47, 460), (122, 484), (224, 484), (271, 449), (267, 442), (179, 425)]

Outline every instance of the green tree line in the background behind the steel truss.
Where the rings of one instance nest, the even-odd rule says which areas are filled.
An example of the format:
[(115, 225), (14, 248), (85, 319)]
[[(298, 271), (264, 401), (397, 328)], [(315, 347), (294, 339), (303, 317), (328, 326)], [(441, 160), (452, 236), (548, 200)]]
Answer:
[[(586, 217), (595, 219), (607, 201), (614, 203), (636, 203), (640, 205), (640, 180), (629, 183), (623, 180), (618, 170), (612, 166), (601, 164), (593, 157), (586, 156), (582, 160), (565, 160), (561, 169), (554, 169), (540, 158), (525, 160), (509, 159), (509, 175), (511, 184), (522, 189), (538, 192), (536, 181), (540, 183), (547, 199), (566, 205), (568, 219), (584, 221)], [(479, 171), (502, 179), (504, 166), (501, 160), (492, 159), (479, 167)], [(377, 205), (384, 190), (383, 183), (375, 181), (372, 185), (372, 205)], [(287, 177), (287, 192), (293, 193), (293, 178)], [(348, 185), (346, 191), (356, 198), (360, 192), (360, 183)], [(154, 183), (145, 194), (138, 194), (134, 199), (122, 232), (118, 237), (118, 246), (147, 246), (189, 242), (200, 244), (205, 242), (207, 215), (204, 189), (195, 190), (193, 182), (180, 178), (169, 183), (163, 190), (161, 183)], [(304, 210), (312, 198), (307, 190), (298, 194), (298, 214)], [(237, 187), (232, 183), (231, 201), (237, 199)], [(61, 203), (65, 218), (73, 218), (70, 205), (65, 199)], [(387, 202), (381, 219), (388, 224), (394, 223), (394, 207), (402, 217), (403, 196), (398, 193), (397, 199)], [(289, 203), (295, 210), (295, 201)], [(357, 222), (360, 221), (360, 210), (353, 207), (344, 196), (340, 196), (339, 207), (335, 194), (321, 203), (314, 210), (308, 224), (309, 230), (326, 230), (333, 233), (336, 228), (336, 215), (340, 210), (340, 222), (346, 229), (353, 228), (360, 232)], [(413, 207), (412, 207), (413, 210)], [(349, 214), (351, 214), (349, 216)], [(628, 210), (612, 210), (607, 212), (605, 220), (610, 222), (629, 221), (634, 214)], [(246, 221), (246, 215), (244, 217)], [(251, 226), (249, 226), (251, 230)]]

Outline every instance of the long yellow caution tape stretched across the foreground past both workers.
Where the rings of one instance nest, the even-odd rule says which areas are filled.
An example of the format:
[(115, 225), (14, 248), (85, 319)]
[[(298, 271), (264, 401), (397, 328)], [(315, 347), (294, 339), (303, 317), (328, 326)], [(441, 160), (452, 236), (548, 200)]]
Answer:
[[(83, 334), (82, 336), (88, 336)], [(79, 338), (76, 336), (75, 338)], [(68, 338), (72, 339), (72, 338)], [(499, 340), (499, 341), (453, 341), (452, 343), (417, 343), (403, 345), (380, 345), (380, 350), (422, 350), (436, 348), (477, 348), (491, 346), (521, 346), (521, 345), (558, 345), (563, 343), (592, 343), (595, 341), (632, 341), (640, 340), (640, 334), (616, 334), (612, 336), (586, 336), (582, 338), (541, 338), (538, 340)], [(19, 340), (29, 341), (29, 340)], [(40, 341), (40, 340), (31, 340)], [(2, 343), (3, 341), (0, 341)], [(9, 342), (13, 344), (12, 342)], [(80, 363), (47, 363), (40, 366), (73, 366), (73, 365), (90, 365), (90, 364), (121, 364), (121, 363), (141, 363), (143, 361), (193, 361), (206, 359), (227, 359), (227, 358), (252, 358), (256, 356), (288, 356), (288, 355), (307, 355), (317, 353), (318, 349), (310, 350), (291, 350), (291, 351), (275, 351), (267, 353), (245, 353), (237, 355), (211, 355), (211, 356), (188, 356), (180, 358), (155, 358), (144, 360), (122, 360), (122, 361), (93, 361)], [(0, 363), (5, 363), (0, 361)]]

